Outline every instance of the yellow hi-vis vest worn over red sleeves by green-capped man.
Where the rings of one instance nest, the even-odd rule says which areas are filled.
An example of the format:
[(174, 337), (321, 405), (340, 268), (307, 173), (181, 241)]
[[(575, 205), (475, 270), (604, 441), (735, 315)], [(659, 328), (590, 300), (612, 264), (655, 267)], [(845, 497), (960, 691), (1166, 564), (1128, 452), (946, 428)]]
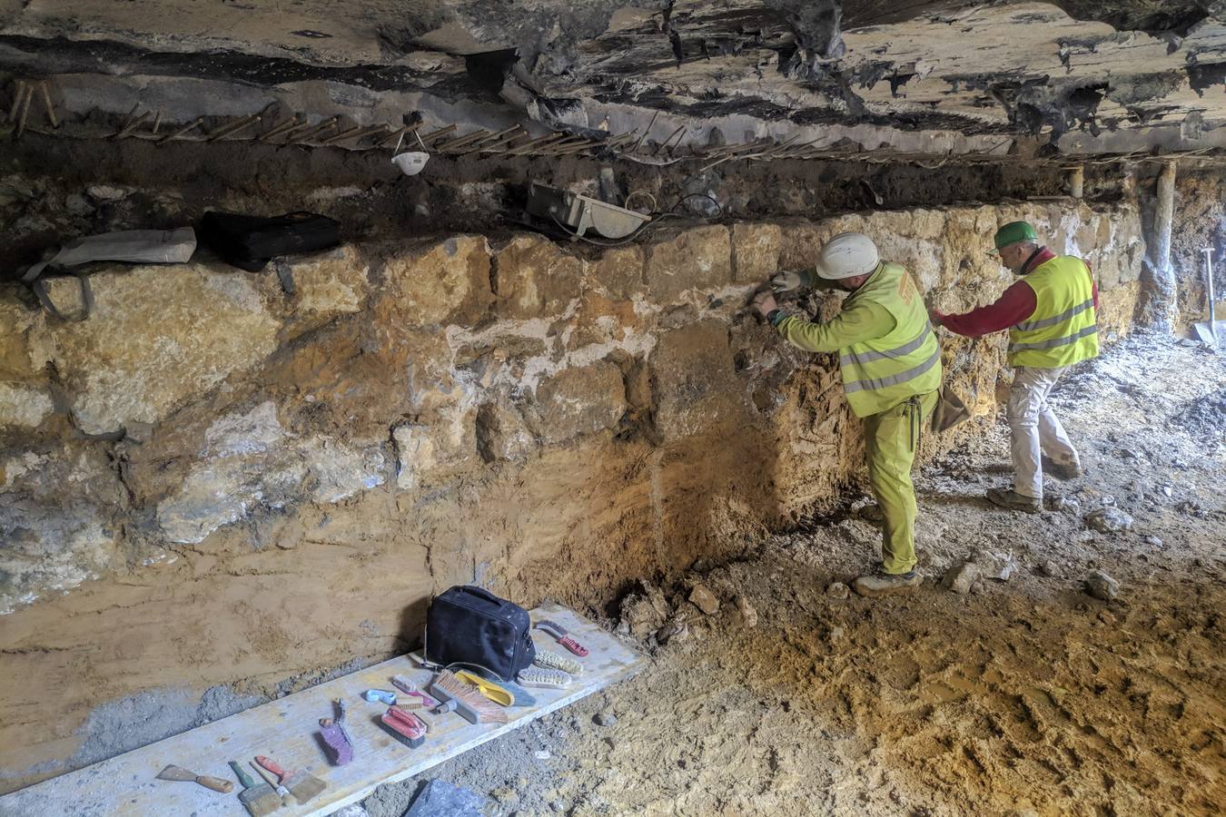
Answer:
[(1022, 278), (1035, 311), (1009, 329), (1009, 364), (1059, 369), (1098, 356), (1094, 282), (1081, 258), (1060, 255)]

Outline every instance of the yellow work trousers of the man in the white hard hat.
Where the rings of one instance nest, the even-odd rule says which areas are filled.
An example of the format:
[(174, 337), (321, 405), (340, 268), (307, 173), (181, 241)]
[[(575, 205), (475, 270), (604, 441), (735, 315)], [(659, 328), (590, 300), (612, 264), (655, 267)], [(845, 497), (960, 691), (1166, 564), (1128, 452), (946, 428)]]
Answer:
[(921, 429), (937, 407), (937, 392), (899, 403), (864, 418), (868, 483), (884, 517), (881, 561), (886, 573), (906, 573), (916, 566), (916, 490), (911, 463)]

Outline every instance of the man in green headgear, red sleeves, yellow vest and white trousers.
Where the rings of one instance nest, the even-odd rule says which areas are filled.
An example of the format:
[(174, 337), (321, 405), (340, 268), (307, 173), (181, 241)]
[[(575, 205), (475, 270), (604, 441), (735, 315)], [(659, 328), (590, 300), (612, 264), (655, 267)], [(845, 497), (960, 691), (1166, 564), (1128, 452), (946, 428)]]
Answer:
[(1098, 356), (1098, 288), (1084, 261), (1056, 255), (1027, 222), (1010, 222), (996, 234), (994, 255), (1022, 279), (988, 306), (964, 315), (934, 311), (932, 322), (977, 337), (1009, 329), (1011, 489), (993, 488), (993, 505), (1036, 513), (1043, 507), (1043, 469), (1058, 479), (1084, 472), (1076, 448), (1052, 410), (1056, 381), (1075, 363)]

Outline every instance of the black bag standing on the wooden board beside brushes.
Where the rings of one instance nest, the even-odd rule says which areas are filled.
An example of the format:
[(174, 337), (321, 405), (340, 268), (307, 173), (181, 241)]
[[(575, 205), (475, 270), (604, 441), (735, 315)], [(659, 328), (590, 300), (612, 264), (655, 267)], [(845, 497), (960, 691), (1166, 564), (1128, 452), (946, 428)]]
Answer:
[(471, 664), (504, 681), (532, 665), (532, 619), (517, 604), (468, 584), (452, 587), (425, 614), (425, 660), (440, 666)]

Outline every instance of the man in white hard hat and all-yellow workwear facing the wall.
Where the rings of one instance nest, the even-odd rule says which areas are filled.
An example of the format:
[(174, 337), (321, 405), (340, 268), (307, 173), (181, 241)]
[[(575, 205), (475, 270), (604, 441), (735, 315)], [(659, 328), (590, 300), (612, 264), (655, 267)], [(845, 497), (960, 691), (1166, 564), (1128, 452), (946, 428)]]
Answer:
[(754, 299), (758, 311), (790, 343), (807, 352), (837, 352), (843, 392), (864, 420), (868, 479), (881, 510), (883, 563), (853, 583), (861, 595), (906, 592), (916, 573), (916, 495), (911, 464), (920, 430), (937, 405), (940, 347), (920, 290), (906, 269), (884, 263), (872, 239), (841, 233), (820, 250), (808, 272), (771, 278), (774, 292), (824, 280), (847, 293), (842, 311), (826, 323), (788, 315), (771, 292)]

